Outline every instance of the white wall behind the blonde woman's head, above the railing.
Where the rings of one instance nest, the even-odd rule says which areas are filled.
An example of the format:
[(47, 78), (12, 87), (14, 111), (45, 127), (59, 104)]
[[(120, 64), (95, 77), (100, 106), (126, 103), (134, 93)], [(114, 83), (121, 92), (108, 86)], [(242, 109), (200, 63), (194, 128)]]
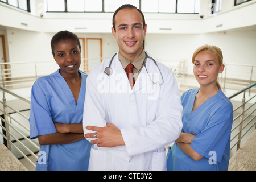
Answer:
[(192, 73), (192, 55), (197, 47), (211, 44), (220, 47), (226, 64), (256, 65), (256, 31), (230, 31), (226, 34), (147, 34), (146, 50), (152, 57), (188, 60), (188, 74)]

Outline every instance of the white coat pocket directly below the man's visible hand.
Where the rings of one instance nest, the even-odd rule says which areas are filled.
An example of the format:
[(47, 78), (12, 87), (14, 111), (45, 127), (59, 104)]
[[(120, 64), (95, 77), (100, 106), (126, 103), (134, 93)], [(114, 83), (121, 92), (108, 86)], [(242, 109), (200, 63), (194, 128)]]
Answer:
[(89, 171), (105, 171), (106, 170), (106, 151), (98, 150), (92, 146), (90, 150)]

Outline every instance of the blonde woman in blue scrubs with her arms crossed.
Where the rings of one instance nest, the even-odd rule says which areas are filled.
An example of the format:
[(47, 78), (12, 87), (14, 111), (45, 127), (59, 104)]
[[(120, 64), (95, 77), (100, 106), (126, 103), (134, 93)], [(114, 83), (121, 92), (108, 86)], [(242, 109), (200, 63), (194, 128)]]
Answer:
[(183, 93), (183, 130), (167, 156), (168, 170), (227, 170), (233, 106), (217, 82), (221, 49), (201, 46), (192, 57), (200, 88)]

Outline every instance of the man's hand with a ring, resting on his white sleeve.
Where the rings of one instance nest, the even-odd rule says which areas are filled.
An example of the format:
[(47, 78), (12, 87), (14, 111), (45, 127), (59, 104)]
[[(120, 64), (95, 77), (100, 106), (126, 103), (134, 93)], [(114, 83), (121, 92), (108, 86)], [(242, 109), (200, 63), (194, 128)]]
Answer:
[[(97, 132), (97, 139), (92, 140), (92, 144), (98, 147), (116, 147), (125, 145), (121, 131), (115, 125), (107, 123), (106, 127), (86, 126), (87, 130)], [(94, 138), (94, 133), (86, 133), (85, 138)]]

